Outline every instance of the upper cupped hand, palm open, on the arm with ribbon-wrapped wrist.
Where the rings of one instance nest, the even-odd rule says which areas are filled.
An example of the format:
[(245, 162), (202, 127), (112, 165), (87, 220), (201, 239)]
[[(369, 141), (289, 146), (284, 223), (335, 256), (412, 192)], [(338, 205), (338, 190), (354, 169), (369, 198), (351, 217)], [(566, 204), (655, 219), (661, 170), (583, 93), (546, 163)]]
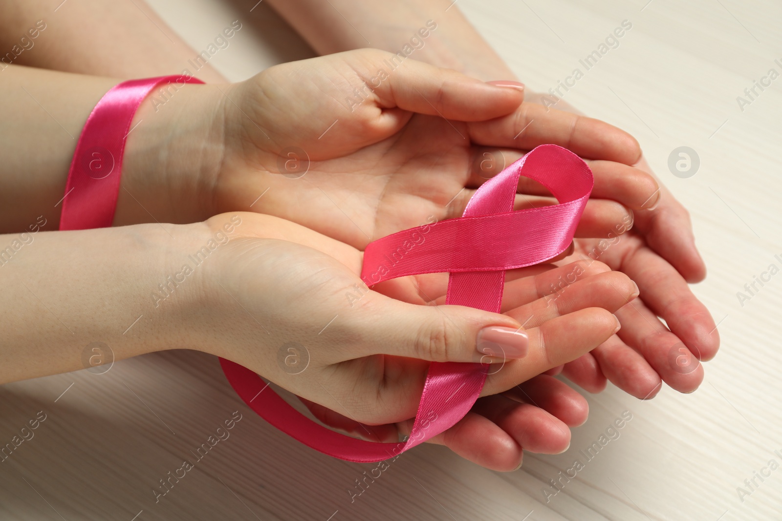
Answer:
[[(362, 49), (274, 66), (232, 87), (194, 87), (220, 100), (212, 120), (224, 121), (224, 130), (214, 133), (221, 135), (222, 153), (206, 156), (211, 166), (202, 161), (182, 177), (161, 177), (168, 209), (145, 208), (159, 220), (264, 212), (363, 248), (427, 219), (461, 216), (475, 189), (520, 156), (509, 151), (503, 159), (497, 147), (529, 150), (543, 143), (596, 160), (595, 199), (577, 236), (601, 237), (614, 223), (629, 228), (631, 209), (655, 204), (656, 181), (623, 164), (637, 160), (640, 149), (621, 130), (520, 105), (517, 88), (412, 59), (392, 69), (393, 59), (399, 61)], [(160, 192), (132, 173), (124, 182), (139, 201), (155, 197), (140, 195), (135, 184)], [(522, 188), (536, 196), (518, 195), (517, 208), (547, 202), (537, 197), (547, 194), (540, 185), (522, 181)], [(127, 222), (125, 207), (140, 212), (131, 198), (123, 203), (120, 198), (115, 223)]]

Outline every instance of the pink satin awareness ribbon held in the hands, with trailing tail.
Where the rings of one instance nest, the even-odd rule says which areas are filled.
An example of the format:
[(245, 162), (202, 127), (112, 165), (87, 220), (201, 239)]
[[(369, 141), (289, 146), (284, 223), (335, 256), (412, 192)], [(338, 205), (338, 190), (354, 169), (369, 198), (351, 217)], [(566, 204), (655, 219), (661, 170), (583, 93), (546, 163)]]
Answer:
[[(514, 211), (520, 176), (543, 184), (559, 204)], [(577, 155), (556, 145), (541, 145), (486, 181), (461, 218), (400, 231), (368, 244), (361, 278), (371, 286), (396, 277), (448, 272), (447, 304), (500, 312), (505, 270), (538, 264), (564, 252), (593, 184), (589, 167)], [(225, 359), (221, 364), (231, 386), (267, 422), (317, 451), (353, 462), (389, 459), (454, 426), (478, 399), (486, 381), (482, 364), (432, 362), (410, 437), (400, 443), (373, 443), (312, 422), (266, 389), (268, 384), (250, 369)]]

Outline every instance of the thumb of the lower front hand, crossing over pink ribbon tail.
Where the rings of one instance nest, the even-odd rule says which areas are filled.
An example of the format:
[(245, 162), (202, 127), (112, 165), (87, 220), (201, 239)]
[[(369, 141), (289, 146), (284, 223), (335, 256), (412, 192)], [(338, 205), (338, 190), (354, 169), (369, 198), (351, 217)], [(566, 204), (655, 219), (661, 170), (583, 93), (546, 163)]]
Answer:
[[(378, 295), (381, 296), (381, 295)], [(382, 297), (382, 296), (381, 296)], [(526, 331), (506, 315), (461, 305), (415, 305), (382, 297), (385, 311), (371, 314), (375, 344), (383, 355), (429, 362), (504, 362), (527, 354)], [(378, 323), (379, 322), (379, 323)]]

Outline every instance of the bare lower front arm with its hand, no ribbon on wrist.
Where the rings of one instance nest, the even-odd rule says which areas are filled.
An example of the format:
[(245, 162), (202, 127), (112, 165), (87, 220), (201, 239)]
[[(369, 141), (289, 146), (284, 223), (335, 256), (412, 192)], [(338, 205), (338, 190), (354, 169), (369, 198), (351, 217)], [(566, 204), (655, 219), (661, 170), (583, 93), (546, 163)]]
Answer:
[[(233, 230), (224, 231), (231, 223)], [(167, 276), (181, 272), (188, 254), (225, 236), (231, 240), (196, 266), (173, 294), (163, 302), (151, 298)], [(298, 244), (279, 237), (296, 238)], [(15, 238), (3, 235), (0, 241)], [(96, 251), (102, 252), (101, 262), (95, 262)], [(344, 294), (361, 283), (360, 268), (358, 250), (295, 223), (248, 212), (188, 225), (39, 231), (0, 267), (7, 332), (0, 381), (82, 369), (84, 349), (94, 341), (109, 344), (116, 359), (192, 348), (239, 362), (328, 409), (344, 407), (364, 423), (386, 424), (414, 415), (426, 361), (482, 359), (475, 346), (482, 327), (515, 328), (518, 318), (535, 316), (526, 328), (526, 357), (506, 360), (483, 393), (507, 391), (604, 341), (619, 327), (611, 311), (635, 292), (629, 279), (597, 263), (583, 266), (573, 289), (580, 297), (556, 306), (548, 305), (546, 283), (567, 266), (516, 270), (506, 287), (506, 294), (514, 295), (506, 307), (515, 307), (505, 315), (412, 305), (375, 291), (350, 306)], [(318, 334), (334, 312), (344, 320)], [(145, 318), (133, 323), (139, 315)], [(30, 317), (36, 317), (35, 327)], [(452, 341), (437, 340), (445, 337)], [(277, 365), (278, 348), (289, 341), (307, 345), (310, 353), (300, 375)], [(518, 451), (514, 445), (505, 451)], [(500, 469), (513, 465), (511, 459)]]

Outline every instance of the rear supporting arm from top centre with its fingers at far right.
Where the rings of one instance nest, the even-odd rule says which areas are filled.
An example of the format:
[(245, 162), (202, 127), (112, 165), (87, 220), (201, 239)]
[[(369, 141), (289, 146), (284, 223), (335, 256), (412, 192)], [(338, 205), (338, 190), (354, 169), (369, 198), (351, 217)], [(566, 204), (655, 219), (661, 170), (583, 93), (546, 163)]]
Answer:
[[(421, 48), (415, 49), (415, 59), (481, 80), (515, 79), (514, 71), (450, 0), (404, 0), (393, 7), (375, 0), (332, 0), (328, 8), (315, 0), (270, 3), (319, 54), (366, 45), (354, 27), (371, 34), (375, 47), (396, 52), (425, 20), (431, 19), (436, 20), (437, 29)], [(517, 55), (534, 54), (536, 50), (517, 49)], [(515, 63), (517, 71), (523, 66), (523, 61)], [(526, 92), (528, 102), (538, 103), (541, 96)], [(581, 114), (565, 100), (559, 100), (555, 108)], [(529, 130), (534, 124), (530, 123)], [(643, 158), (633, 164), (651, 174)], [(687, 210), (662, 184), (661, 188), (655, 209), (637, 212), (636, 227), (626, 240), (612, 244), (599, 257), (635, 280), (642, 298), (634, 302), (634, 309), (628, 307), (618, 313), (623, 326), (619, 337), (612, 337), (594, 356), (587, 355), (565, 367), (565, 374), (589, 391), (601, 391), (606, 376), (637, 398), (653, 397), (662, 388), (661, 380), (678, 391), (693, 391), (703, 379), (697, 360), (711, 359), (719, 348), (714, 319), (687, 287), (687, 283), (705, 277), (705, 264), (695, 247)], [(602, 238), (614, 237), (598, 237)], [(579, 255), (589, 255), (596, 248), (601, 252), (605, 244), (576, 240)], [(658, 316), (665, 319), (665, 324)]]

